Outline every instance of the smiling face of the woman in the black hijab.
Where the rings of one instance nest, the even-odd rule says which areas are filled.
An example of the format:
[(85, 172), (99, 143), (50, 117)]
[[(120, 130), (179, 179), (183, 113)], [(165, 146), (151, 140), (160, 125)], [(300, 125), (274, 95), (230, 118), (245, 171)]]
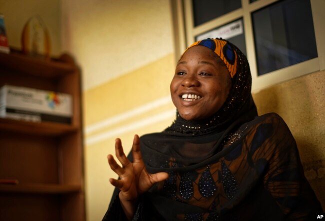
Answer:
[(185, 120), (205, 119), (220, 109), (231, 88), (225, 64), (205, 46), (189, 48), (177, 63), (170, 94)]

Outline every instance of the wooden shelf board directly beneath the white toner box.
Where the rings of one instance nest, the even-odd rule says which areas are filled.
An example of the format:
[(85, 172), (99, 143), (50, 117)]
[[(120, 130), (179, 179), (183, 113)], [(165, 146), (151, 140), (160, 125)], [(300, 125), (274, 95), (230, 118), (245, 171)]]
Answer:
[(29, 122), (0, 118), (0, 131), (57, 136), (78, 130), (77, 126), (54, 122)]

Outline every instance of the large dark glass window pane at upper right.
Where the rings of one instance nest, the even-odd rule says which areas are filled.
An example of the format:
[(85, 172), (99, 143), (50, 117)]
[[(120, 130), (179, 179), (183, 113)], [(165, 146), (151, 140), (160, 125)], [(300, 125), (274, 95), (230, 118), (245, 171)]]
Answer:
[(317, 57), (309, 0), (283, 0), (252, 13), (258, 75)]

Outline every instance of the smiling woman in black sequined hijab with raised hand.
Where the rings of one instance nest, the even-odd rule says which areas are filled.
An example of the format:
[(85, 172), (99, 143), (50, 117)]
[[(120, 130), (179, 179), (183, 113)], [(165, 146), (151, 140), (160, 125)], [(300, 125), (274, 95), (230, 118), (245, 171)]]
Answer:
[[(103, 220), (308, 220), (321, 212), (283, 120), (257, 116), (246, 57), (205, 39), (179, 59), (170, 84), (177, 109), (161, 133), (135, 135), (128, 159), (116, 139), (119, 176)], [(140, 151), (141, 150), (141, 151)], [(131, 163), (132, 162), (132, 163)]]

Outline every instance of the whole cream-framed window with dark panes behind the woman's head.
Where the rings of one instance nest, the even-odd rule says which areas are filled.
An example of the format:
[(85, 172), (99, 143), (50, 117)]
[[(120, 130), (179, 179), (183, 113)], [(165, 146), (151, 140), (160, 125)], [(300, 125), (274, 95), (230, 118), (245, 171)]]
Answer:
[(325, 69), (323, 0), (170, 2), (179, 52), (207, 37), (229, 40), (247, 56), (253, 91)]

